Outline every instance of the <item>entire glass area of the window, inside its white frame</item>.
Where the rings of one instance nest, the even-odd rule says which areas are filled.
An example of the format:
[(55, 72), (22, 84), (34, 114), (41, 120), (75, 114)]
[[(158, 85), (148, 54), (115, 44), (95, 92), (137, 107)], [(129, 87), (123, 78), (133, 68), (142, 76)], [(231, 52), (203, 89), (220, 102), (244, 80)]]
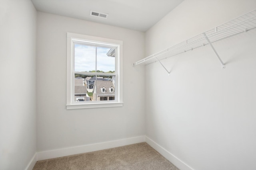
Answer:
[(116, 95), (115, 51), (115, 48), (74, 41), (73, 102), (113, 100)]

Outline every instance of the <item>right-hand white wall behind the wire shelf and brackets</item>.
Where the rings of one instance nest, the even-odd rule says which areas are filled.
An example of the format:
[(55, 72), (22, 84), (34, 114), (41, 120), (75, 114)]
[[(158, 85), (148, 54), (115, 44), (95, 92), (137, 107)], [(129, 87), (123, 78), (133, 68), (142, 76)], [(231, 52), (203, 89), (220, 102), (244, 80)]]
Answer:
[[(146, 32), (146, 55), (254, 9), (255, 0), (185, 0)], [(183, 169), (253, 170), (256, 29), (213, 45), (225, 69), (209, 45), (163, 60), (170, 76), (146, 66), (146, 136)]]

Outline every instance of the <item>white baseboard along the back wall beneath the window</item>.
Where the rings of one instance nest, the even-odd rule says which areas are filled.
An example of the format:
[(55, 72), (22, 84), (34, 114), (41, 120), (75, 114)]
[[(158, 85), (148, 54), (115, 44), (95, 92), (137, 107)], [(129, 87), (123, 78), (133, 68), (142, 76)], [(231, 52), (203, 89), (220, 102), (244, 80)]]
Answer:
[(140, 143), (140, 142), (145, 142), (145, 136), (132, 137), (127, 139), (120, 139), (116, 141), (108, 141), (108, 142), (102, 142), (102, 143), (95, 143), (90, 145), (82, 145), (78, 147), (48, 150), (43, 152), (37, 152), (37, 160), (45, 160), (45, 159), (51, 159), (51, 158), (58, 158), (62, 156), (69, 156), (73, 154), (93, 152), (96, 150), (110, 149), (114, 147), (121, 147), (124, 145), (131, 145), (131, 144)]

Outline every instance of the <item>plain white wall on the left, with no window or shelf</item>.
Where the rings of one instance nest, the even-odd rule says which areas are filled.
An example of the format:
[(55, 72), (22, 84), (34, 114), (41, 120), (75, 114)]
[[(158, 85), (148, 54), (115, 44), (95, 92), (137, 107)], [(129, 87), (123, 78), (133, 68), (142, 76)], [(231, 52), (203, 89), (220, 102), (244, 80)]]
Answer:
[(24, 170), (36, 153), (36, 10), (0, 1), (0, 169)]

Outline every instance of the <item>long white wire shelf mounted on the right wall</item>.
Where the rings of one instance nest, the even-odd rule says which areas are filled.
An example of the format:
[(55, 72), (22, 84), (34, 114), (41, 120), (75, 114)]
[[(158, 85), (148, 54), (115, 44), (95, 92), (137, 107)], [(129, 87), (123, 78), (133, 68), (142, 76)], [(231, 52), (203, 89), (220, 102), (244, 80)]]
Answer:
[(166, 59), (168, 57), (172, 57), (174, 55), (202, 47), (209, 44), (206, 37), (208, 37), (210, 43), (214, 43), (216, 41), (249, 31), (250, 29), (254, 28), (256, 28), (256, 10), (248, 12), (247, 14), (244, 14), (234, 20), (214, 27), (202, 34), (192, 37), (168, 49), (164, 49), (163, 51), (150, 55), (140, 61), (137, 61), (133, 65), (151, 64), (162, 59)]

